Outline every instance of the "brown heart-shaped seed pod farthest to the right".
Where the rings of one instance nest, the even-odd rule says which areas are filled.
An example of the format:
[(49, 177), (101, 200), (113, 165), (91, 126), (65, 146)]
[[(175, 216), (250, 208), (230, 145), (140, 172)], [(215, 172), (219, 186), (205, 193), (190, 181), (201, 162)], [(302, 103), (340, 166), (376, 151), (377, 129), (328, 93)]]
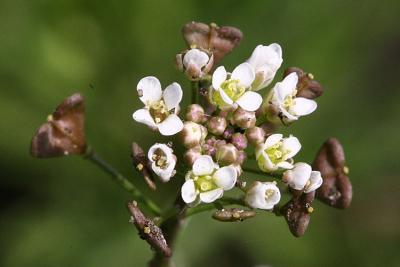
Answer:
[(350, 206), (353, 189), (345, 165), (343, 147), (335, 138), (328, 139), (318, 152), (313, 169), (320, 171), (323, 183), (317, 190), (317, 198), (339, 209)]

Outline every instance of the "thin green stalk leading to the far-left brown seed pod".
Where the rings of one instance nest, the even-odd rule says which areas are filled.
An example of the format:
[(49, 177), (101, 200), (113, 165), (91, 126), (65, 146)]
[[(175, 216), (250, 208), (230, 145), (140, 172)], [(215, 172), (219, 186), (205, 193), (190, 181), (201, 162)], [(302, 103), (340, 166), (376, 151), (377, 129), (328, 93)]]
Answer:
[(114, 182), (121, 186), (125, 191), (131, 193), (137, 202), (140, 202), (142, 205), (144, 205), (154, 215), (159, 216), (161, 214), (161, 209), (157, 206), (157, 204), (145, 197), (131, 181), (129, 181), (110, 164), (104, 161), (98, 154), (94, 152), (93, 149), (88, 147), (86, 151), (87, 152), (84, 156), (85, 159), (90, 160), (90, 162), (94, 163), (97, 167), (108, 173)]

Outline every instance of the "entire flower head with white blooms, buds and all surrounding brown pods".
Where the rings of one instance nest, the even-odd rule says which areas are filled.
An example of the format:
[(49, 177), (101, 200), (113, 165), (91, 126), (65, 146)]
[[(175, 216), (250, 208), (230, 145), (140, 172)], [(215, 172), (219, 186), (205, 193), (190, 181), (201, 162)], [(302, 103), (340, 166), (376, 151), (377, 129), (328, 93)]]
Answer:
[[(348, 208), (352, 186), (339, 141), (326, 141), (310, 165), (294, 159), (302, 148), (299, 139), (279, 132), (279, 127), (317, 109), (315, 99), (323, 88), (314, 76), (290, 67), (282, 81), (263, 92), (283, 63), (279, 44), (256, 46), (247, 60), (228, 72), (217, 64), (239, 44), (240, 30), (190, 22), (182, 33), (188, 48), (176, 56), (176, 64), (191, 81), (192, 90), (183, 90), (176, 82), (162, 90), (153, 76), (137, 84), (144, 107), (133, 113), (133, 119), (163, 136), (179, 137), (174, 143), (155, 142), (147, 152), (133, 143), (133, 164), (149, 187), (162, 190), (155, 177), (163, 183), (179, 179), (182, 210), (214, 203), (218, 210), (213, 218), (224, 222), (243, 221), (254, 217), (257, 210), (269, 211), (283, 216), (295, 236), (305, 233), (314, 198), (335, 208)], [(182, 116), (180, 103), (187, 92), (192, 93), (192, 103)], [(182, 155), (175, 155), (172, 144), (182, 146)], [(31, 154), (43, 158), (85, 153), (84, 101), (75, 94), (39, 128)], [(223, 197), (235, 187), (240, 189), (239, 198)], [(283, 187), (292, 197), (280, 205)], [(224, 207), (231, 204), (245, 208)], [(128, 208), (142, 238), (170, 256), (161, 228), (144, 216), (136, 202)]]

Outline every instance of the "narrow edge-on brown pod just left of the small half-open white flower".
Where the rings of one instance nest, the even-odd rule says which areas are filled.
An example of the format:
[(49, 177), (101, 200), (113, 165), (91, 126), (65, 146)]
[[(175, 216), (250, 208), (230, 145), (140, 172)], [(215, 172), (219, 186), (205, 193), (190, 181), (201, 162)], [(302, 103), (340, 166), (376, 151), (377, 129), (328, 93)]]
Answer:
[(146, 157), (143, 149), (135, 142), (132, 143), (132, 161), (133, 166), (142, 175), (146, 184), (152, 190), (156, 190), (157, 186), (152, 175), (149, 159)]

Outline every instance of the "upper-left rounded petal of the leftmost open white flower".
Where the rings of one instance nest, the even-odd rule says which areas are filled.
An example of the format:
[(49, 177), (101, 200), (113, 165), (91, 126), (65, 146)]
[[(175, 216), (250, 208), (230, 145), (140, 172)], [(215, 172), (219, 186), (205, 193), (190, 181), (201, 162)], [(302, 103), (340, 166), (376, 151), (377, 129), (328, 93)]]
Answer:
[(136, 87), (139, 99), (145, 104), (149, 104), (161, 99), (162, 91), (160, 81), (153, 76), (142, 78)]

